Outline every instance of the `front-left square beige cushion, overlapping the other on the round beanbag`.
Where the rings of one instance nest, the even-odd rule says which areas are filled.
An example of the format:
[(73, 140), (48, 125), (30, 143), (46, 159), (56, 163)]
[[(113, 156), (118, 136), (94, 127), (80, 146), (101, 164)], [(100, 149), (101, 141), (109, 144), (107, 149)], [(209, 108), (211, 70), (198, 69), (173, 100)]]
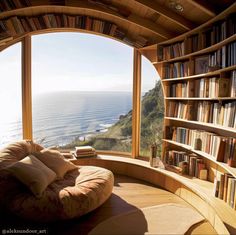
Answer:
[(35, 156), (29, 155), (7, 168), (25, 184), (36, 197), (41, 197), (47, 186), (56, 179), (56, 174)]

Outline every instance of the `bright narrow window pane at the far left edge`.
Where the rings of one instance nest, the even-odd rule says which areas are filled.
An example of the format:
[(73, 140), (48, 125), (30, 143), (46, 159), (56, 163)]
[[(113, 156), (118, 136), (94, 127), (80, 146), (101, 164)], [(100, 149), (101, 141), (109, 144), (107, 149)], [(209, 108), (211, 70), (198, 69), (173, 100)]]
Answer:
[(0, 53), (0, 146), (22, 139), (21, 43)]

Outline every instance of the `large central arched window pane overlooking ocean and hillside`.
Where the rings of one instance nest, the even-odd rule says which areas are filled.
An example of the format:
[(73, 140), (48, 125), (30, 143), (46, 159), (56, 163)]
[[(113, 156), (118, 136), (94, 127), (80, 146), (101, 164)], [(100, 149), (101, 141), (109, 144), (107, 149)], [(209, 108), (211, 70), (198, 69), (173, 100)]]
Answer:
[(133, 49), (80, 33), (32, 37), (33, 137), (131, 151)]

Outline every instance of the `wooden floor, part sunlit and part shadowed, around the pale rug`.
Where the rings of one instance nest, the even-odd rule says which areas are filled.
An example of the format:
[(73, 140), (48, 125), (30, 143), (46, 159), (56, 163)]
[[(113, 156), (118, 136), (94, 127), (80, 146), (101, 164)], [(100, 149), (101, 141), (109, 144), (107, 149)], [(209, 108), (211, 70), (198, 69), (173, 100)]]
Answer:
[[(32, 224), (19, 219), (13, 219), (12, 216), (0, 218), (4, 228), (18, 229), (46, 229), (47, 234), (60, 235), (86, 235), (92, 228), (105, 219), (114, 215), (128, 212), (136, 208), (154, 206), (162, 203), (179, 203), (188, 205), (178, 196), (157, 188), (146, 182), (133, 179), (127, 176), (116, 175), (113, 194), (97, 210), (74, 220), (61, 221), (50, 224)], [(2, 217), (2, 216), (1, 216)], [(217, 234), (208, 222), (202, 222), (195, 228), (192, 228), (188, 234)], [(111, 234), (112, 235), (112, 234)]]

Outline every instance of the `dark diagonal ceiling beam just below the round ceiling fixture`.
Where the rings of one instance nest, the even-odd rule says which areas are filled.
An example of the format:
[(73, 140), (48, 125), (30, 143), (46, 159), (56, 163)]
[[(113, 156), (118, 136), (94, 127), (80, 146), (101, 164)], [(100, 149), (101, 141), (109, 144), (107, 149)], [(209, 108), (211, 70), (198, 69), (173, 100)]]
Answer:
[(154, 10), (158, 14), (168, 18), (169, 20), (178, 24), (179, 26), (183, 27), (186, 30), (191, 30), (196, 27), (196, 25), (192, 21), (187, 20), (183, 16), (178, 15), (174, 11), (171, 11), (171, 9), (164, 7), (153, 0), (135, 0), (135, 1), (145, 7), (148, 7), (149, 9)]

